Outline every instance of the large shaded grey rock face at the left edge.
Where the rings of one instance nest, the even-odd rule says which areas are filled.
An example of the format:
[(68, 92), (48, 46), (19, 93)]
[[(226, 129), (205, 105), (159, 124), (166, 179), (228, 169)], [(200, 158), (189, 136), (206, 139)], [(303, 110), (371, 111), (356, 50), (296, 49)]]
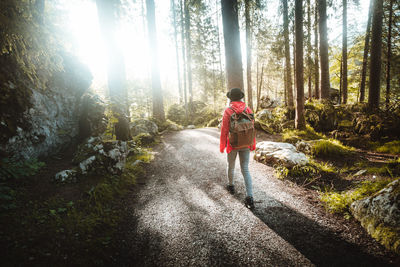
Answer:
[(1, 155), (16, 160), (43, 157), (76, 141), (80, 98), (89, 88), (92, 76), (71, 56), (63, 55), (63, 65), (64, 71), (55, 73), (45, 89), (26, 83), (24, 101), (29, 104), (24, 111), (2, 111), (0, 128), (7, 129), (2, 131), (7, 135), (1, 136)]

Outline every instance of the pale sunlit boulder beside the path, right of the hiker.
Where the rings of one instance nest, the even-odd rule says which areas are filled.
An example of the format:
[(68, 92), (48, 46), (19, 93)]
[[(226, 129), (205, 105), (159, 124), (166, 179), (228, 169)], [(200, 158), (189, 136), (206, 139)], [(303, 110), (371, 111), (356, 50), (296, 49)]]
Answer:
[(281, 164), (287, 168), (308, 163), (306, 155), (298, 152), (294, 145), (271, 141), (257, 143), (254, 158), (268, 165)]

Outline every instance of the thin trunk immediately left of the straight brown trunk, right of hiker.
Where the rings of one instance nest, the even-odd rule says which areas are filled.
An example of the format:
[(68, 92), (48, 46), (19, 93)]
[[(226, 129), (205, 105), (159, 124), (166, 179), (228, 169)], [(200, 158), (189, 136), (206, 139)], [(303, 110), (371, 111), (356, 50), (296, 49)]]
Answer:
[(283, 4), (283, 37), (285, 39), (285, 71), (286, 71), (286, 90), (289, 107), (294, 107), (293, 89), (292, 89), (292, 68), (290, 64), (290, 47), (289, 47), (289, 18), (287, 0), (282, 0)]

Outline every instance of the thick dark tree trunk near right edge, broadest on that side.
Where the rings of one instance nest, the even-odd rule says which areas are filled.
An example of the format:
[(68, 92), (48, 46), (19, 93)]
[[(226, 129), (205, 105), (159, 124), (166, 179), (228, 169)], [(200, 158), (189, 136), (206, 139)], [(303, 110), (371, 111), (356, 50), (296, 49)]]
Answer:
[(383, 0), (375, 0), (374, 13), (372, 15), (371, 66), (369, 68), (368, 93), (368, 107), (371, 110), (379, 108), (380, 100), (382, 68), (382, 17)]

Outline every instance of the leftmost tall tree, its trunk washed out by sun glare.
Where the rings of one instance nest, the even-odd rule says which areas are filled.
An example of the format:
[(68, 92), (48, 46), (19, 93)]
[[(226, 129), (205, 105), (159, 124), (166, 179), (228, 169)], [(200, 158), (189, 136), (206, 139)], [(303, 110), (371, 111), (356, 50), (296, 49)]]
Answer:
[(107, 79), (111, 109), (118, 119), (115, 124), (117, 140), (130, 138), (128, 123), (128, 93), (126, 90), (125, 63), (115, 40), (117, 1), (96, 0), (101, 33), (107, 52)]

